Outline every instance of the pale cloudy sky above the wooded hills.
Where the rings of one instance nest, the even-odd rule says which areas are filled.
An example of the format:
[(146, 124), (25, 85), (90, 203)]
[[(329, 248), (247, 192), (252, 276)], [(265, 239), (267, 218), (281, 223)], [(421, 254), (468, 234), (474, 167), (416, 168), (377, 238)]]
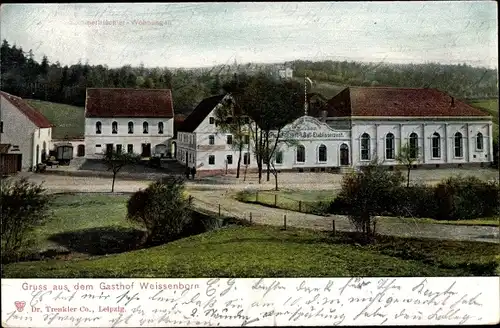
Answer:
[(4, 4), (0, 15), (2, 40), (62, 65), (498, 66), (496, 1)]

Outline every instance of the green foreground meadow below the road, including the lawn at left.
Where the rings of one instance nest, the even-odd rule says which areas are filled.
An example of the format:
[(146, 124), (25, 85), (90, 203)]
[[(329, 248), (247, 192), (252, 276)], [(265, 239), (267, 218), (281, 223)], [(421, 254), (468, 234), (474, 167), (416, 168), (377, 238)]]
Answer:
[[(54, 220), (41, 228), (39, 244), (60, 243), (72, 253), (65, 259), (12, 263), (4, 277), (344, 277), (460, 276), (499, 273), (498, 245), (378, 237), (361, 246), (351, 235), (301, 229), (251, 226), (212, 231), (141, 250), (125, 232), (127, 196), (64, 195)], [(77, 238), (78, 237), (78, 238)], [(125, 239), (124, 239), (125, 238)], [(68, 239), (72, 239), (68, 242)], [(99, 253), (103, 243), (121, 245)], [(107, 254), (107, 255), (105, 255)], [(105, 256), (103, 256), (105, 255)], [(497, 256), (497, 257), (495, 257)], [(235, 261), (235, 258), (238, 259)]]

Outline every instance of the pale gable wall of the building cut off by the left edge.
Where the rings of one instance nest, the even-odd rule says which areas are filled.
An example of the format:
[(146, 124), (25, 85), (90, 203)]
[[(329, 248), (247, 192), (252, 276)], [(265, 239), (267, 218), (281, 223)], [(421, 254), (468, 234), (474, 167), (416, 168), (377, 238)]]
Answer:
[[(9, 154), (22, 154), (23, 171), (33, 167), (33, 133), (38, 128), (3, 96), (0, 96), (0, 120), (3, 122), (0, 143), (12, 145)], [(13, 151), (13, 146), (19, 150)]]

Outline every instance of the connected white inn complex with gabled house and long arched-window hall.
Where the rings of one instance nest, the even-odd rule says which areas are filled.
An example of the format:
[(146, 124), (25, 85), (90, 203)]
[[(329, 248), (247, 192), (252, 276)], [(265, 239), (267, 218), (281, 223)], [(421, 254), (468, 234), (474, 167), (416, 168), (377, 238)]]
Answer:
[[(232, 136), (215, 124), (223, 99), (203, 100), (179, 129), (181, 163), (214, 173), (236, 169), (239, 152)], [(492, 117), (435, 89), (350, 87), (320, 113), (309, 114), (280, 134), (283, 142), (274, 159), (278, 170), (338, 171), (375, 159), (396, 166), (406, 144), (421, 167), (493, 161)], [(255, 169), (251, 145), (244, 153), (242, 167)]]

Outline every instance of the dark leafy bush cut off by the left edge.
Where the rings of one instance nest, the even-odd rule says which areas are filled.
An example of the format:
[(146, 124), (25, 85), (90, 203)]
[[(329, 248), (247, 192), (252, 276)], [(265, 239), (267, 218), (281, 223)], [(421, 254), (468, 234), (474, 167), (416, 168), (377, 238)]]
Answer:
[(49, 218), (50, 196), (27, 179), (0, 181), (2, 263), (17, 261), (26, 251), (34, 228)]

